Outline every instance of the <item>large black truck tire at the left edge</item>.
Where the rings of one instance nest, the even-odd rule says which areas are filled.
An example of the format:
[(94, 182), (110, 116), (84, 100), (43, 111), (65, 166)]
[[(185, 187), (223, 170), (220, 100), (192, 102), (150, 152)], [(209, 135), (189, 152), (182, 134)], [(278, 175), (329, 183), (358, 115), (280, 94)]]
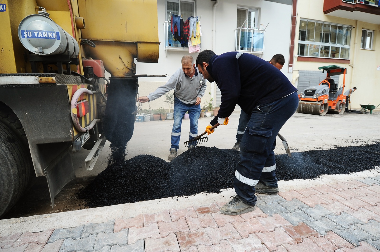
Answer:
[(25, 191), (30, 168), (19, 137), (0, 121), (0, 216), (7, 213)]

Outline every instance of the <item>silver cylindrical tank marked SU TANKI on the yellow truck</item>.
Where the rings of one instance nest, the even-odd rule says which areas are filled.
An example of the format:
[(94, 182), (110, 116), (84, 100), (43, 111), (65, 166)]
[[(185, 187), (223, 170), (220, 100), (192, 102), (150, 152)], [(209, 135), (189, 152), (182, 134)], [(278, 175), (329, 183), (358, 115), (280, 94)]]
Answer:
[(30, 52), (39, 55), (70, 54), (78, 57), (77, 41), (57, 25), (46, 11), (38, 11), (20, 22), (19, 39)]

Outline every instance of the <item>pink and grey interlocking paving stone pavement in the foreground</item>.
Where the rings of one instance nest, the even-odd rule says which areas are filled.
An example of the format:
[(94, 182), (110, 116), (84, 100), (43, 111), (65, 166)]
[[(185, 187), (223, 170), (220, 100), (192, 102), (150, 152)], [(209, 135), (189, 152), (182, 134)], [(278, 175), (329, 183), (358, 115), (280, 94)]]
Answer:
[(256, 210), (240, 216), (221, 214), (225, 202), (216, 202), (43, 232), (0, 230), (0, 252), (380, 251), (380, 176), (257, 197)]

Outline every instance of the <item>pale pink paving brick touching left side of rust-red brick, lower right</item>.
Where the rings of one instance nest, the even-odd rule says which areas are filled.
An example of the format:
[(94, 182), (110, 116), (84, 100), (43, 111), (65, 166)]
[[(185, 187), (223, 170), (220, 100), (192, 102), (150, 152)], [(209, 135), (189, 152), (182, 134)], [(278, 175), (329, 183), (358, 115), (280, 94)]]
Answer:
[(277, 246), (284, 243), (296, 244), (296, 242), (283, 231), (281, 228), (275, 228), (273, 232), (269, 233), (255, 233), (258, 238), (265, 244), (269, 251), (275, 251)]

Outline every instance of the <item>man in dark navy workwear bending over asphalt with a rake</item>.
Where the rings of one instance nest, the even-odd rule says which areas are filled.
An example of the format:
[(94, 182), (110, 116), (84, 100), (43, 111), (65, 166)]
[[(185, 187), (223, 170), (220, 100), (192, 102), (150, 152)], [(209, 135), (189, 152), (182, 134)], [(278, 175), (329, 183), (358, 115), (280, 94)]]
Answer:
[(223, 214), (239, 215), (256, 208), (255, 191), (279, 192), (275, 176), (274, 148), (281, 127), (298, 107), (297, 89), (275, 66), (252, 54), (211, 50), (199, 53), (199, 72), (217, 83), (222, 101), (218, 115), (206, 127), (226, 125), (236, 104), (250, 114), (240, 145), (234, 188), (236, 196), (221, 208)]

